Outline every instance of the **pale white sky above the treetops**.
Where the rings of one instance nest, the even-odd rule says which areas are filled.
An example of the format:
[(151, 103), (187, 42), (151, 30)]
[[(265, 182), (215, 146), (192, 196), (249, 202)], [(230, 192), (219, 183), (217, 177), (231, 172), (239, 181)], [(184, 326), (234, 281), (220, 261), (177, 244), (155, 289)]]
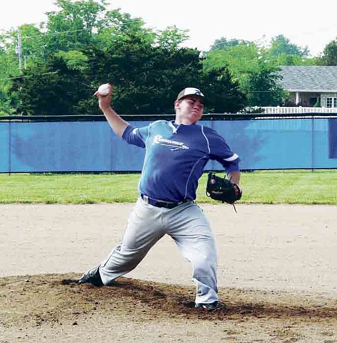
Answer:
[[(337, 37), (337, 1), (321, 0), (111, 0), (109, 9), (120, 8), (141, 17), (145, 26), (163, 30), (175, 25), (188, 29), (185, 46), (208, 50), (216, 39), (243, 39), (268, 45), (279, 34), (312, 56), (323, 52)], [(0, 29), (40, 23), (55, 10), (54, 0), (1, 0)]]

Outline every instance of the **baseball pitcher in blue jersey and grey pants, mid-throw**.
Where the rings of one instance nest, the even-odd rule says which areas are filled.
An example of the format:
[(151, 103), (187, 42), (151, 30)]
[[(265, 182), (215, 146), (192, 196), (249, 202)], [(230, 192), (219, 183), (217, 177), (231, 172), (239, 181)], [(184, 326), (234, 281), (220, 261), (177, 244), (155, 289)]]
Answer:
[(108, 87), (106, 96), (95, 93), (107, 121), (125, 142), (146, 149), (140, 195), (122, 242), (99, 266), (86, 271), (79, 283), (112, 285), (116, 278), (136, 268), (167, 234), (192, 263), (195, 307), (208, 311), (224, 308), (217, 294), (215, 239), (208, 219), (194, 200), (198, 179), (210, 159), (220, 162), (231, 181), (239, 184), (239, 156), (216, 131), (196, 124), (204, 109), (200, 90), (188, 87), (178, 94), (175, 120), (135, 128), (110, 107), (112, 86)]

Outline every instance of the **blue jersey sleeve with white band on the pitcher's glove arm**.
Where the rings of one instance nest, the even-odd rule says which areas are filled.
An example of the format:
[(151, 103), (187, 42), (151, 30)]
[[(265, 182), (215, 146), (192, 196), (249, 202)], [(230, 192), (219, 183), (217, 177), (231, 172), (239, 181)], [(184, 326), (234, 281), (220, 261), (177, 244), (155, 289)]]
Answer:
[(240, 157), (231, 150), (224, 138), (214, 130), (210, 130), (207, 136), (209, 140), (210, 159), (219, 162), (226, 172), (239, 171)]

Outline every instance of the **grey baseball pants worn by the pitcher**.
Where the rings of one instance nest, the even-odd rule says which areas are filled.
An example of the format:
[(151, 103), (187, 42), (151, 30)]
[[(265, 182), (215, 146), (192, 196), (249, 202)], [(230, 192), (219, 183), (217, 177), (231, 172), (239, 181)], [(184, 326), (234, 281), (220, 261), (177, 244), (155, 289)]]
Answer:
[(193, 201), (167, 209), (149, 205), (139, 198), (122, 242), (99, 267), (103, 284), (109, 286), (117, 277), (135, 269), (165, 234), (172, 237), (183, 256), (192, 263), (195, 303), (218, 300), (215, 239), (208, 219)]

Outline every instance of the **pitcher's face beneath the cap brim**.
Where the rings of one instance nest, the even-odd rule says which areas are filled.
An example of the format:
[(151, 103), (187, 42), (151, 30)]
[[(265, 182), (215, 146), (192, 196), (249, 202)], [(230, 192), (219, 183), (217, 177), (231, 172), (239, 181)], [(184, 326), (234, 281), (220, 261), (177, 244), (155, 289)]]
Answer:
[(175, 101), (176, 121), (183, 124), (196, 123), (204, 113), (203, 99), (195, 96)]

